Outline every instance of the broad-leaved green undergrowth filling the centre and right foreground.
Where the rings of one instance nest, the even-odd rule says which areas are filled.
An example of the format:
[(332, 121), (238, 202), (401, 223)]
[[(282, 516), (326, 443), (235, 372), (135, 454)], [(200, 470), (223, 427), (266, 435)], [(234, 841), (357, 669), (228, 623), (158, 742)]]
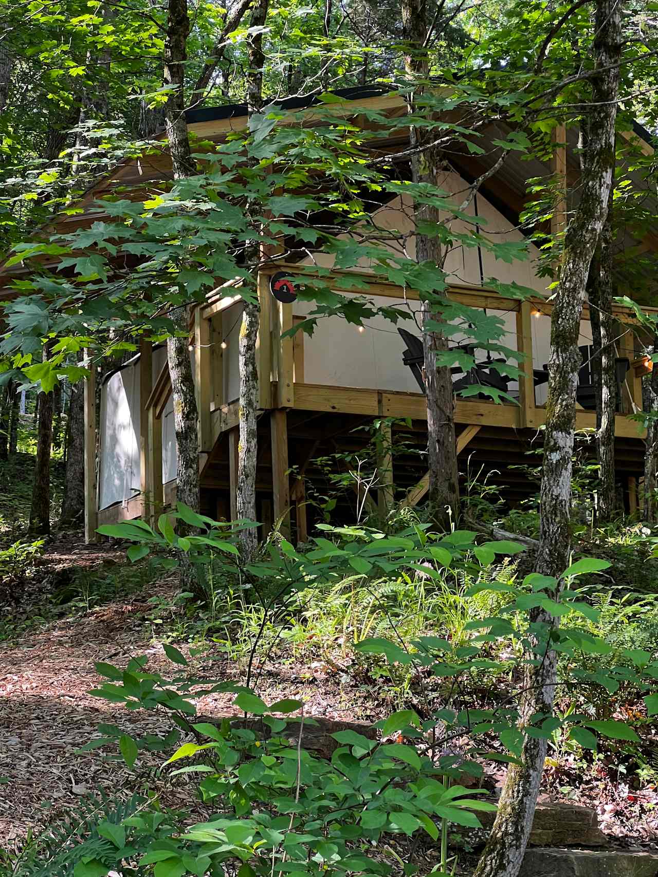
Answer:
[[(179, 518), (196, 534), (178, 537)], [(109, 529), (133, 541), (133, 560), (152, 550), (189, 552), (199, 567), (213, 565), (215, 586), (225, 567), (227, 581), (250, 583), (263, 607), (294, 591), (335, 590), (348, 575), (369, 587), (387, 576), (419, 574), (440, 587), (453, 581), (462, 602), (480, 602), (490, 614), (460, 618), (444, 636), (429, 631), (405, 638), (393, 624), (390, 637), (359, 638), (354, 650), (373, 681), (382, 679), (381, 667), (412, 680), (408, 702), (372, 732), (333, 733), (325, 752), (306, 745), (315, 720), (304, 702), (267, 703), (254, 690), (253, 657), (265, 614), (244, 685), (206, 678), (194, 667), (197, 653), (188, 659), (173, 645), (164, 649), (180, 668), (174, 674), (154, 671), (146, 657), (127, 667), (98, 664), (105, 681), (94, 695), (131, 711), (159, 712), (169, 730), (137, 736), (105, 724), (86, 748), (118, 746), (131, 768), (161, 752), (161, 775), (186, 781), (190, 800), (183, 812), (171, 812), (154, 792), (119, 823), (101, 820), (94, 827), (100, 845), (71, 852), (74, 877), (411, 875), (419, 870), (418, 844), (436, 846), (432, 873), (445, 874), (448, 824), (477, 827), (477, 812), (495, 809), (482, 789), (467, 788), (478, 784), (488, 764), (518, 765), (526, 737), (569, 741), (583, 750), (614, 741), (623, 757), (658, 715), (658, 661), (635, 648), (621, 648), (620, 660), (608, 657), (612, 646), (596, 629), (599, 610), (577, 586), (580, 576), (604, 570), (607, 561), (576, 560), (561, 576), (566, 588), (557, 602), (550, 596), (554, 579), (528, 574), (516, 581), (501, 564), (522, 551), (520, 545), (478, 544), (473, 531), (446, 535), (415, 525), (391, 536), (325, 524), (304, 553), (282, 538), (243, 564), (233, 525), (181, 505), (161, 517), (157, 530), (139, 522)], [(537, 608), (561, 624), (538, 624)], [(526, 668), (549, 651), (558, 652), (561, 663), (556, 707), (524, 723), (519, 697)], [(643, 699), (633, 726), (618, 714), (597, 717), (596, 698), (625, 686)], [(241, 719), (197, 714), (199, 698), (227, 692), (235, 695)]]

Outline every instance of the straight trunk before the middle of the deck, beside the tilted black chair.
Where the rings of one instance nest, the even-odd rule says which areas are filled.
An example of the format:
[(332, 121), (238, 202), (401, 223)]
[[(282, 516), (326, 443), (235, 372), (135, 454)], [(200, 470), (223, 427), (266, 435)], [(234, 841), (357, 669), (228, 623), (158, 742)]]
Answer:
[[(411, 83), (416, 85), (408, 99), (408, 109), (414, 112), (415, 103), (429, 78), (429, 55), (425, 48), (428, 22), (424, 0), (402, 0), (404, 42), (407, 46), (404, 68)], [(413, 125), (409, 130), (411, 147), (422, 146), (425, 134)], [(411, 158), (411, 179), (414, 183), (436, 186), (440, 174), (441, 156), (435, 148), (427, 148)], [(438, 210), (425, 204), (414, 208), (416, 224), (439, 223)], [(442, 270), (444, 253), (440, 240), (425, 234), (416, 234), (416, 259), (430, 261)], [(421, 306), (423, 322), (423, 350), (425, 353), (425, 393), (427, 403), (427, 462), (430, 474), (429, 500), (437, 526), (448, 530), (459, 510), (459, 477), (457, 448), (454, 438), (454, 393), (449, 367), (437, 367), (437, 354), (447, 350), (447, 338), (437, 331), (441, 322), (436, 303), (424, 301)], [(434, 327), (433, 327), (434, 326)]]

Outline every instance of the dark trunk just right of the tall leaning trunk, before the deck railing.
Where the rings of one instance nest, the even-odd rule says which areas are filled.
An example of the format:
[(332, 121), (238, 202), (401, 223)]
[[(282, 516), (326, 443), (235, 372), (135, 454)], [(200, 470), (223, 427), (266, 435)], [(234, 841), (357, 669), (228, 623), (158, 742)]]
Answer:
[(590, 266), (588, 298), (592, 331), (592, 374), (597, 393), (597, 520), (610, 521), (617, 505), (615, 489), (615, 412), (617, 410), (617, 369), (615, 365), (615, 326), (612, 319), (612, 187), (608, 216), (601, 232), (596, 257)]

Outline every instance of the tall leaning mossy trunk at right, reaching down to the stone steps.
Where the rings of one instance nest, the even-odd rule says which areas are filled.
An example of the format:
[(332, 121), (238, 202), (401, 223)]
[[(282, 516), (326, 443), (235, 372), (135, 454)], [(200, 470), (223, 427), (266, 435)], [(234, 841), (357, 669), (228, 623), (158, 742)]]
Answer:
[[(551, 319), (547, 423), (540, 490), (540, 546), (536, 568), (558, 581), (569, 566), (571, 457), (576, 428), (576, 387), (581, 357), (580, 318), (592, 253), (608, 210), (614, 165), (614, 134), (619, 93), (621, 5), (597, 0), (594, 21), (596, 68), (592, 80), (587, 161), (581, 200), (564, 236), (560, 282)], [(559, 596), (560, 585), (550, 596)], [(520, 726), (541, 724), (553, 713), (557, 656), (550, 647), (556, 617), (531, 612), (532, 651), (519, 704)], [(530, 661), (533, 661), (532, 663)], [(511, 765), (498, 805), (496, 821), (474, 877), (516, 877), (526, 852), (546, 759), (547, 740), (525, 736), (519, 765)]]

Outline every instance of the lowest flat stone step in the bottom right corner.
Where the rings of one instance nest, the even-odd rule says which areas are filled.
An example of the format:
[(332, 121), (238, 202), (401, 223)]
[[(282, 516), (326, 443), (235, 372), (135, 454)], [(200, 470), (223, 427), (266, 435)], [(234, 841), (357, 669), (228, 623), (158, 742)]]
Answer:
[(658, 877), (658, 855), (626, 850), (528, 850), (519, 877)]

